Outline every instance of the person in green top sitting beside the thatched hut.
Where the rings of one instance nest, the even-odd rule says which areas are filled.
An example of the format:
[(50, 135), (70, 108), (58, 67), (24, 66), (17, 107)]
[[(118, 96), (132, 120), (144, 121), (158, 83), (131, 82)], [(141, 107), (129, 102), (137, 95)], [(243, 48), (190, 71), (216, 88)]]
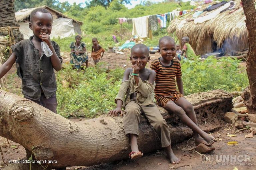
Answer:
[(181, 39), (181, 44), (183, 45), (183, 48), (182, 48), (182, 52), (180, 55), (184, 55), (185, 58), (188, 58), (188, 59), (193, 59), (193, 58), (196, 58), (196, 53), (194, 51), (194, 49), (192, 48), (192, 46), (189, 44), (189, 38), (188, 37), (183, 37)]

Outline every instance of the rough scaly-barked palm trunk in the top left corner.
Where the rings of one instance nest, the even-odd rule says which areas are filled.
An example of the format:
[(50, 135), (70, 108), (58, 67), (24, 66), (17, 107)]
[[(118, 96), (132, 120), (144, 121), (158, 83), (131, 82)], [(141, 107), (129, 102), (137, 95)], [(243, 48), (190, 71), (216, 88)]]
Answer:
[[(1, 0), (0, 1), (0, 27), (19, 27), (18, 22), (15, 18), (14, 12), (14, 0)], [(7, 33), (0, 33), (4, 36), (8, 35)], [(19, 42), (23, 40), (23, 35), (18, 30), (13, 30), (15, 41)]]

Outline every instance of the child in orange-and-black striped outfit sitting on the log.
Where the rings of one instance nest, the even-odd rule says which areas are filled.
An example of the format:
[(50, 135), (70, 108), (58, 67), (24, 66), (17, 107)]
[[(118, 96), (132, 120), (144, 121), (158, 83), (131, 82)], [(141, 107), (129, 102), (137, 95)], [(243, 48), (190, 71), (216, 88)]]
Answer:
[[(193, 130), (196, 145), (199, 143), (212, 145), (214, 137), (198, 127), (194, 107), (184, 98), (180, 62), (173, 59), (176, 55), (174, 40), (169, 36), (162, 37), (159, 40), (158, 52), (161, 57), (151, 63), (151, 68), (156, 72), (155, 99), (157, 104), (176, 114), (185, 125)], [(175, 78), (179, 91), (176, 90)]]

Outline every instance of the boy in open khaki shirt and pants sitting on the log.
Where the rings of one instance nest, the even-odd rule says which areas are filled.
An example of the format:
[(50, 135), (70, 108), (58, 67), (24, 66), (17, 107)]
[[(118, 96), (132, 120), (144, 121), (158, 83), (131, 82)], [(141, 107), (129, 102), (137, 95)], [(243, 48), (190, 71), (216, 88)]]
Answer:
[(125, 135), (130, 137), (131, 141), (131, 153), (129, 154), (131, 159), (143, 156), (143, 153), (138, 148), (137, 137), (139, 135), (140, 114), (144, 113), (161, 138), (161, 145), (166, 148), (170, 162), (177, 164), (180, 160), (172, 151), (169, 127), (154, 103), (156, 73), (145, 68), (150, 60), (147, 46), (144, 44), (134, 45), (131, 49), (130, 60), (133, 66), (125, 70), (115, 99), (117, 107), (110, 111), (109, 114), (117, 116), (117, 114), (121, 113), (123, 115), (121, 107), (125, 109), (123, 124)]

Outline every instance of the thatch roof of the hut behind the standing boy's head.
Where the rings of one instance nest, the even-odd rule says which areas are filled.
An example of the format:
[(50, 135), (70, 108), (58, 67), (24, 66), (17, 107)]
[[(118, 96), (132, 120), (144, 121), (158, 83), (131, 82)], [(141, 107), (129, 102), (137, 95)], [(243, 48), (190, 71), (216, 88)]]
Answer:
[(82, 25), (83, 23), (77, 20), (74, 20), (73, 18), (70, 18), (64, 14), (62, 14), (61, 12), (52, 9), (46, 5), (44, 6), (40, 6), (40, 7), (35, 7), (35, 8), (27, 8), (27, 9), (22, 9), (19, 10), (17, 12), (15, 12), (15, 18), (18, 22), (22, 22), (22, 21), (28, 21), (29, 20), (29, 16), (31, 14), (31, 12), (37, 8), (45, 8), (47, 10), (49, 10), (51, 13), (54, 13), (56, 15), (57, 18), (69, 18), (72, 19), (74, 22), (78, 23), (79, 25)]

